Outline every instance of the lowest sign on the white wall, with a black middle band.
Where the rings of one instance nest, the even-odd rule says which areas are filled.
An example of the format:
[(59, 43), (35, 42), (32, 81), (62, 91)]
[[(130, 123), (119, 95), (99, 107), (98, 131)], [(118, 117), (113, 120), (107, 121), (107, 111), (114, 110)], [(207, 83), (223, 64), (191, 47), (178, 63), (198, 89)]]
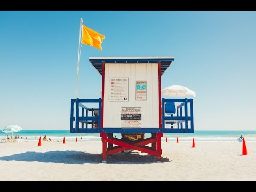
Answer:
[(141, 107), (121, 107), (121, 128), (141, 127)]

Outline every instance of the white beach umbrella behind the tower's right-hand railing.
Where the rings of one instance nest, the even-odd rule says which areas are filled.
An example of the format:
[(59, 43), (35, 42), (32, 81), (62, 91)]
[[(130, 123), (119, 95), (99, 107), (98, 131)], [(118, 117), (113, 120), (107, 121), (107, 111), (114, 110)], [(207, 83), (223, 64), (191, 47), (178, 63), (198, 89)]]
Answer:
[(172, 85), (161, 90), (161, 93), (167, 96), (187, 96), (192, 95), (196, 97), (196, 93), (185, 86)]

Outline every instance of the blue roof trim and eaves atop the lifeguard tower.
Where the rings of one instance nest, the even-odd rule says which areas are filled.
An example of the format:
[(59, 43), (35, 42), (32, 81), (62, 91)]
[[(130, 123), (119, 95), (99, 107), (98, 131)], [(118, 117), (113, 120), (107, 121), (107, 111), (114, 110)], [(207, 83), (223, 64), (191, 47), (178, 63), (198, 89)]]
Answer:
[(119, 59), (89, 59), (89, 61), (92, 63), (92, 65), (95, 67), (95, 69), (98, 70), (98, 72), (102, 75), (102, 63), (114, 63), (114, 64), (136, 64), (136, 63), (149, 63), (149, 64), (155, 64), (160, 62), (161, 63), (161, 75), (165, 72), (165, 70), (171, 65), (172, 61), (174, 61), (174, 58), (119, 58)]

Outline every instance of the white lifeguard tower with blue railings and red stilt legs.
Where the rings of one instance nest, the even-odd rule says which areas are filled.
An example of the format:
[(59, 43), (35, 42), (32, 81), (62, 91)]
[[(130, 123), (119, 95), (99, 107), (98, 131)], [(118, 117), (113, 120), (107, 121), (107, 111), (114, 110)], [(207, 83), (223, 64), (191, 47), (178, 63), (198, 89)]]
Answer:
[[(90, 57), (89, 61), (102, 75), (101, 98), (71, 99), (70, 133), (100, 133), (102, 163), (128, 149), (154, 155), (161, 162), (163, 133), (194, 132), (193, 100), (161, 99), (161, 76), (174, 57)], [(120, 138), (113, 133), (120, 133)], [(148, 138), (145, 133), (150, 133)]]

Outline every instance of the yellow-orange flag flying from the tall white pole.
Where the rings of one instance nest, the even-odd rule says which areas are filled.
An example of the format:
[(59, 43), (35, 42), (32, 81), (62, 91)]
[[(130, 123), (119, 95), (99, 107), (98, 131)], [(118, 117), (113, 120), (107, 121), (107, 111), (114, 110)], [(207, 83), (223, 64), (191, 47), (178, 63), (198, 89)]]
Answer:
[(86, 27), (83, 24), (83, 31), (82, 31), (82, 42), (86, 45), (91, 45), (97, 49), (102, 50), (102, 47), (100, 46), (103, 39), (105, 39), (105, 35), (101, 35), (97, 31), (94, 31), (90, 29), (89, 27)]

